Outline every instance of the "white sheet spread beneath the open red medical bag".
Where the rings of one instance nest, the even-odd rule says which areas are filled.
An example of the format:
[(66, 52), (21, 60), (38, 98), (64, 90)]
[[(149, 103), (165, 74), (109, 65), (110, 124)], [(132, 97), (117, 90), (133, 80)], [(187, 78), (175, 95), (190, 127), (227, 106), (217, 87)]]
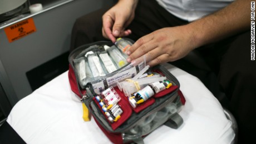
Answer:
[[(150, 133), (145, 143), (230, 143), (235, 134), (216, 98), (198, 78), (164, 64), (180, 82), (186, 104), (178, 130), (166, 126)], [(111, 143), (95, 121), (82, 120), (80, 99), (70, 90), (67, 72), (23, 98), (7, 122), (27, 143)]]

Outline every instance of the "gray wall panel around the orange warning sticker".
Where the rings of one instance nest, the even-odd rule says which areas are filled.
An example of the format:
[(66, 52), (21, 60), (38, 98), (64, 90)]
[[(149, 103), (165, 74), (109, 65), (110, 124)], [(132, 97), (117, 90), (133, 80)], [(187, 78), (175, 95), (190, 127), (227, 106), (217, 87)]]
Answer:
[(0, 75), (5, 78), (1, 83), (9, 87), (7, 93), (12, 97), (12, 104), (32, 92), (27, 71), (68, 51), (75, 19), (111, 3), (106, 0), (74, 0), (37, 14), (33, 16), (37, 32), (12, 43), (0, 29)]

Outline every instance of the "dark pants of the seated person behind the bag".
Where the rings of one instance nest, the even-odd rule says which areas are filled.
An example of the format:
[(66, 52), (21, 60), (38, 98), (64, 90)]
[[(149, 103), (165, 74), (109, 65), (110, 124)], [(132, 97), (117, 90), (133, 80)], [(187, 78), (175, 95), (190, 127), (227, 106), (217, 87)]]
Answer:
[[(72, 31), (71, 51), (82, 44), (106, 40), (101, 29), (102, 15), (107, 9), (109, 7), (77, 19)], [(134, 21), (127, 28), (132, 31), (129, 38), (136, 41), (156, 29), (187, 23), (167, 12), (156, 1), (141, 0)], [(199, 77), (233, 113), (238, 123), (239, 143), (253, 141), (256, 137), (256, 62), (250, 60), (250, 32), (196, 48), (194, 52), (204, 60), (207, 68), (196, 58), (193, 62), (189, 56), (173, 64)], [(209, 77), (216, 79), (211, 81)], [(223, 92), (225, 97), (218, 97), (216, 90)]]

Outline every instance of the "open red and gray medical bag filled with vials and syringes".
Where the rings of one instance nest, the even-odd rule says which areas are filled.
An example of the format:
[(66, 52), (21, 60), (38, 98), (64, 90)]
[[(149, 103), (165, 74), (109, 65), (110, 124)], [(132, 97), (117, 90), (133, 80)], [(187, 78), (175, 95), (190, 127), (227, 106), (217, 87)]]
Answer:
[(161, 125), (178, 128), (185, 105), (179, 81), (161, 65), (127, 63), (124, 51), (133, 41), (121, 40), (85, 44), (70, 53), (72, 91), (113, 143), (139, 143)]

